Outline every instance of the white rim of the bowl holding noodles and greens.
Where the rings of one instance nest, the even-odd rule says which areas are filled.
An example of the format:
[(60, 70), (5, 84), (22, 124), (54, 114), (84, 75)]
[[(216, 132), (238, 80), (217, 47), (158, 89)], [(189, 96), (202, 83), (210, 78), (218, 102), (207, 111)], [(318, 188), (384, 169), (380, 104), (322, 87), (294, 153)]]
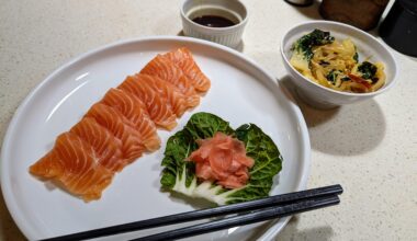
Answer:
[[(288, 37), (289, 33), (298, 28), (298, 27), (302, 27), (304, 25), (314, 25), (314, 24), (317, 24), (317, 25), (338, 25), (340, 27), (345, 27), (345, 28), (348, 28), (352, 32), (356, 32), (357, 34), (360, 34), (364, 37), (368, 37), (368, 38), (371, 38), (372, 41), (374, 41), (376, 44), (379, 44), (382, 49), (384, 49), (386, 51), (386, 56), (388, 58), (392, 59), (392, 62), (393, 62), (393, 73), (392, 73), (392, 80), (390, 81), (390, 83), (385, 83), (382, 88), (380, 88), (379, 90), (374, 91), (374, 92), (369, 92), (369, 93), (353, 93), (353, 92), (343, 92), (343, 91), (338, 91), (338, 90), (333, 90), (330, 88), (327, 88), (327, 87), (324, 87), (319, 83), (316, 83), (309, 79), (307, 79), (306, 77), (304, 77), (302, 73), (298, 72), (298, 70), (296, 70), (291, 64), (290, 64), (290, 60), (286, 58), (286, 55), (284, 53), (284, 39)], [(319, 26), (317, 26), (317, 28), (319, 28)], [(354, 43), (354, 36), (350, 36)], [(388, 89), (391, 89), (394, 83), (396, 83), (396, 77), (397, 77), (397, 73), (398, 73), (398, 68), (397, 68), (397, 61), (394, 57), (394, 55), (390, 51), (390, 49), (382, 43), (380, 42), (376, 37), (372, 36), (371, 34), (360, 30), (360, 28), (357, 28), (354, 26), (351, 26), (351, 25), (348, 25), (348, 24), (345, 24), (345, 23), (340, 23), (340, 22), (335, 22), (335, 21), (327, 21), (327, 20), (313, 20), (313, 21), (305, 21), (303, 23), (300, 23), (300, 24), (296, 24), (294, 26), (292, 26), (291, 28), (289, 28), (285, 34), (282, 36), (281, 38), (281, 43), (280, 43), (280, 47), (281, 47), (281, 55), (282, 55), (282, 58), (285, 62), (285, 65), (288, 65), (292, 70), (294, 70), (294, 72), (296, 72), (296, 74), (298, 77), (301, 77), (305, 82), (309, 83), (312, 87), (316, 87), (320, 90), (324, 90), (324, 91), (328, 91), (330, 93), (335, 93), (335, 94), (340, 94), (340, 95), (345, 95), (345, 96), (374, 96), (374, 95), (377, 95), (380, 93), (383, 93), (385, 91), (387, 91)]]

